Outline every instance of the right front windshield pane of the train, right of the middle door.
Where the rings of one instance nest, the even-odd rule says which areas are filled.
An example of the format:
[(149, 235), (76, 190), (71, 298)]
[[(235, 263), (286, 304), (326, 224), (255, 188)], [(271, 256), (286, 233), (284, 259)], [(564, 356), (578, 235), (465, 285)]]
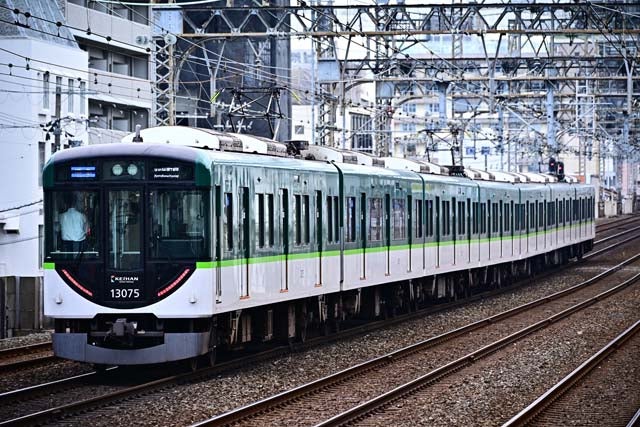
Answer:
[(209, 256), (209, 197), (201, 190), (149, 192), (153, 259)]

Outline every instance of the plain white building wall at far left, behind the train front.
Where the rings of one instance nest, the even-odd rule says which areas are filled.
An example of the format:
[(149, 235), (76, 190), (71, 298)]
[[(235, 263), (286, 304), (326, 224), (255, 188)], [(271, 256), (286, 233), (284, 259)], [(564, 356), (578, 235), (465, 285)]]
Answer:
[[(31, 58), (30, 70), (23, 68), (24, 58), (0, 51), (0, 62), (15, 64), (12, 76), (0, 79), (0, 276), (41, 276), (38, 226), (43, 224), (42, 203), (18, 210), (7, 209), (42, 199), (39, 184), (39, 142), (45, 132), (39, 124), (47, 123), (55, 114), (56, 76), (62, 76), (62, 109), (66, 117), (79, 118), (80, 95), (78, 77), (87, 81), (88, 58), (85, 52), (39, 40), (0, 39), (0, 46), (23, 57)], [(37, 62), (43, 61), (43, 62)], [(49, 63), (49, 64), (47, 64)], [(64, 64), (63, 68), (50, 64)], [(43, 74), (49, 71), (49, 104), (43, 105)], [(68, 83), (75, 82), (73, 111), (68, 110)], [(85, 111), (87, 109), (85, 98)], [(65, 121), (63, 129), (76, 140), (87, 141), (86, 123)], [(68, 143), (64, 133), (61, 143)], [(51, 154), (54, 137), (45, 143), (45, 160)], [(17, 233), (8, 233), (7, 228)]]

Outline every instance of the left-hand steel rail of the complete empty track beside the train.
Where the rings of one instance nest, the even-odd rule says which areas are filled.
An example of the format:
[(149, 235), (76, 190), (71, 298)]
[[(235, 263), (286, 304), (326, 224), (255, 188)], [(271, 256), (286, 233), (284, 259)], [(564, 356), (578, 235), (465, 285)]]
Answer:
[[(311, 383), (307, 383), (304, 384), (302, 386), (296, 387), (292, 390), (288, 390), (285, 391), (283, 393), (277, 394), (275, 396), (271, 396), (268, 397), (266, 399), (262, 399), (260, 401), (251, 403), (249, 405), (237, 408), (235, 410), (232, 410), (230, 412), (226, 412), (224, 414), (218, 415), (216, 417), (210, 418), (208, 420), (204, 420), (202, 422), (199, 422), (197, 424), (194, 424), (194, 426), (223, 426), (223, 425), (229, 425), (229, 424), (233, 424), (235, 422), (238, 422), (240, 420), (246, 420), (246, 419), (250, 419), (252, 416), (259, 414), (261, 412), (273, 409), (273, 408), (277, 408), (278, 406), (281, 406), (287, 402), (299, 399), (302, 396), (305, 396), (307, 394), (311, 394), (316, 390), (320, 390), (323, 388), (328, 387), (329, 385), (333, 385), (333, 384), (337, 384), (340, 382), (343, 382), (345, 380), (350, 379), (351, 377), (357, 376), (363, 372), (372, 370), (372, 369), (376, 369), (379, 368), (381, 366), (384, 366), (386, 364), (391, 363), (391, 361), (395, 360), (395, 359), (399, 359), (402, 357), (406, 357), (412, 353), (416, 353), (422, 350), (425, 350), (429, 347), (433, 347), (437, 344), (440, 344), (442, 342), (451, 340), (455, 337), (458, 337), (460, 335), (466, 334), (468, 332), (471, 332), (473, 330), (479, 329), (481, 327), (493, 324), (497, 321), (503, 320), (505, 318), (508, 317), (512, 317), (516, 314), (522, 313), (524, 311), (527, 311), (531, 308), (534, 308), (536, 306), (545, 304), (547, 302), (559, 299), (560, 297), (563, 297), (567, 294), (573, 293), (577, 290), (580, 290), (582, 288), (585, 288), (587, 286), (592, 285), (593, 283), (599, 281), (600, 279), (609, 276), (613, 273), (615, 273), (616, 271), (620, 270), (622, 267), (624, 267), (627, 264), (630, 264), (632, 262), (637, 261), (638, 259), (640, 259), (640, 253), (634, 255), (633, 257), (623, 261), (622, 263), (602, 272), (597, 274), (596, 276), (592, 277), (591, 279), (588, 279), (582, 283), (579, 283), (577, 285), (574, 285), (570, 288), (567, 288), (565, 290), (556, 292), (554, 294), (548, 295), (546, 297), (543, 298), (539, 298), (535, 301), (531, 301), (529, 303), (520, 305), (518, 307), (515, 307), (513, 309), (498, 313), (496, 315), (490, 316), (488, 318), (479, 320), (477, 322), (468, 324), (466, 326), (460, 327), (458, 329), (455, 329), (453, 331), (449, 331), (446, 332), (444, 334), (429, 338), (427, 340), (421, 341), (419, 343), (407, 346), (405, 348), (402, 348), (400, 350), (394, 351), (392, 353), (389, 353), (387, 355), (363, 362), (359, 365), (355, 365), (353, 367), (347, 368), (345, 370), (342, 370), (340, 372), (337, 372), (335, 374), (329, 375), (327, 377), (318, 379), (316, 381), (313, 381)], [(638, 275), (640, 276), (640, 274)], [(638, 277), (638, 276), (634, 276), (634, 277)], [(553, 318), (553, 316), (552, 316)], [(541, 324), (547, 325), (547, 323), (545, 323), (546, 321), (540, 322)], [(550, 324), (550, 323), (548, 323)], [(537, 330), (537, 329), (536, 329)], [(533, 331), (533, 330), (532, 330)], [(518, 337), (519, 339), (519, 337)], [(490, 346), (488, 346), (490, 347)], [(488, 347), (485, 347), (488, 348)], [(479, 350), (480, 352), (483, 350)], [(495, 351), (495, 350), (493, 350)], [(487, 353), (489, 354), (489, 353)], [(480, 355), (482, 355), (482, 357), (486, 354), (484, 353), (472, 353), (470, 356), (467, 356), (465, 358), (463, 358), (463, 360), (475, 360), (475, 358), (479, 357)], [(457, 362), (452, 362), (452, 363), (457, 363), (456, 365), (454, 365), (451, 369), (453, 370), (457, 370), (460, 368), (460, 363), (459, 361)], [(451, 364), (449, 364), (451, 365)], [(449, 365), (446, 365), (443, 368), (440, 368), (439, 370), (436, 370), (434, 375), (434, 378), (437, 378), (441, 372), (449, 372), (448, 370)], [(427, 374), (429, 375), (429, 374)], [(327, 424), (327, 425), (332, 425), (332, 424)]]

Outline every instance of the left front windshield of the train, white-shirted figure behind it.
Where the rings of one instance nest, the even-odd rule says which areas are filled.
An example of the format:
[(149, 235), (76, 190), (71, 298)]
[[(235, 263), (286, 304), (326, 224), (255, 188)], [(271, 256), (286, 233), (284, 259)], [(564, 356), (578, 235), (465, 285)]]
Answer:
[(100, 197), (98, 191), (52, 193), (52, 226), (48, 228), (47, 252), (52, 258), (76, 259), (100, 256)]

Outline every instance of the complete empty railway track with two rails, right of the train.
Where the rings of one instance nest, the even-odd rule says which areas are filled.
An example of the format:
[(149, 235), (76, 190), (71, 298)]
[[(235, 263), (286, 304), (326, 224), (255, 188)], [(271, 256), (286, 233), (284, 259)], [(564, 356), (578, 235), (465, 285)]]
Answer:
[[(373, 359), (296, 389), (203, 421), (198, 426), (345, 425), (384, 412), (422, 390), (524, 337), (630, 286), (640, 274), (611, 287), (610, 275), (638, 263), (640, 254), (570, 289)], [(582, 299), (574, 304), (576, 299)], [(553, 312), (551, 316), (547, 312)], [(533, 320), (535, 319), (535, 320)], [(478, 339), (480, 336), (483, 339)], [(498, 339), (495, 339), (499, 337)], [(428, 351), (426, 351), (428, 350)], [(451, 355), (456, 355), (453, 360)], [(443, 360), (450, 360), (441, 364)], [(333, 417), (331, 417), (333, 415)], [(374, 425), (378, 425), (373, 421)]]

